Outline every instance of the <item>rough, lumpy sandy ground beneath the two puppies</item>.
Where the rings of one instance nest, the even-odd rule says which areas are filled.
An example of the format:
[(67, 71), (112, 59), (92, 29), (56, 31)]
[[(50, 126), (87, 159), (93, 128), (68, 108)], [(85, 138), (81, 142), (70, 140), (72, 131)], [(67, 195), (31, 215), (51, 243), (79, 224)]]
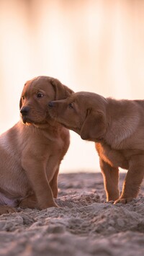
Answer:
[(58, 187), (61, 208), (0, 216), (0, 255), (144, 255), (144, 182), (138, 199), (116, 206), (104, 203), (100, 173), (60, 174)]

